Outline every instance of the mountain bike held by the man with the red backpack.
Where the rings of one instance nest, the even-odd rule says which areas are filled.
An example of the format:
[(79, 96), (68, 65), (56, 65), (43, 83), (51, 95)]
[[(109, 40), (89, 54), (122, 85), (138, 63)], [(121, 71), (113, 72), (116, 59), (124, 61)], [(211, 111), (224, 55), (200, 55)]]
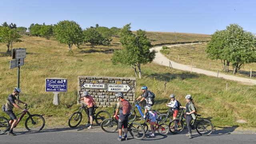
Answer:
[[(114, 114), (116, 113), (116, 106), (114, 106)], [(114, 116), (114, 115), (113, 115)], [(116, 132), (118, 130), (118, 119), (119, 116), (117, 115), (116, 118), (109, 118), (102, 121), (100, 124), (101, 129), (104, 132)], [(131, 136), (137, 140), (142, 140), (145, 137), (145, 130), (143, 126), (137, 122), (128, 122), (128, 132), (130, 132)], [(122, 131), (122, 135), (124, 135), (124, 131)]]

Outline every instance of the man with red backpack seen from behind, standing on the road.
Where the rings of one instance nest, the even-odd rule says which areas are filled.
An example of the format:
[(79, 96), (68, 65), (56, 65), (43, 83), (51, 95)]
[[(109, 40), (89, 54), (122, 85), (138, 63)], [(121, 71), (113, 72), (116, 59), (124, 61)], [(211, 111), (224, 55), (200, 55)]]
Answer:
[(130, 110), (132, 108), (130, 102), (124, 99), (124, 94), (122, 92), (118, 92), (115, 94), (118, 103), (116, 105), (116, 113), (113, 118), (116, 118), (119, 112), (119, 119), (118, 119), (118, 129), (119, 129), (119, 137), (117, 140), (122, 141), (122, 127), (124, 128), (124, 140), (127, 140), (127, 133), (128, 133), (128, 116), (130, 114)]

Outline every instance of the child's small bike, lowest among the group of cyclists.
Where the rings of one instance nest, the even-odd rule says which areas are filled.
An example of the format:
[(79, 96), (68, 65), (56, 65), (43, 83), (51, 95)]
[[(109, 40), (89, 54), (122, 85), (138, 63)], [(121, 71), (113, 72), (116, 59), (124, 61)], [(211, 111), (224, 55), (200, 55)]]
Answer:
[[(164, 134), (164, 135), (168, 134), (169, 131), (170, 131), (169, 125), (168, 125), (168, 124), (165, 124), (165, 123), (159, 124), (159, 122), (161, 122), (161, 121), (156, 120), (156, 123), (154, 124), (154, 129), (155, 129), (159, 134)], [(145, 122), (144, 122), (143, 124), (141, 124), (141, 125), (143, 126), (145, 132), (148, 131), (148, 125), (147, 125), (147, 123), (150, 124), (150, 119), (149, 119), (148, 114), (147, 114), (147, 116), (146, 116)]]

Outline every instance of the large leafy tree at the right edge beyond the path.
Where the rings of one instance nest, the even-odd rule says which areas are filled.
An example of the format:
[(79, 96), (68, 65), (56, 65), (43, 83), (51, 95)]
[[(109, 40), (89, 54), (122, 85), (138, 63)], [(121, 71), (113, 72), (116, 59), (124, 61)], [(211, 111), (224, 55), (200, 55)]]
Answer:
[(230, 24), (226, 30), (217, 30), (212, 35), (206, 52), (211, 59), (220, 59), (226, 64), (225, 72), (230, 63), (238, 72), (244, 64), (256, 62), (256, 36), (238, 24)]

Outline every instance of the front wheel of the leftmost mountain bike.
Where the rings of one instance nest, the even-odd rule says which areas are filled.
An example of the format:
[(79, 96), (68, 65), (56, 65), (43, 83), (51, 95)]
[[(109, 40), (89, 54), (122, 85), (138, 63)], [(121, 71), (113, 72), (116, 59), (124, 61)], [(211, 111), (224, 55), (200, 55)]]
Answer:
[(30, 132), (39, 132), (44, 128), (44, 118), (39, 114), (32, 114), (25, 121), (25, 127)]

